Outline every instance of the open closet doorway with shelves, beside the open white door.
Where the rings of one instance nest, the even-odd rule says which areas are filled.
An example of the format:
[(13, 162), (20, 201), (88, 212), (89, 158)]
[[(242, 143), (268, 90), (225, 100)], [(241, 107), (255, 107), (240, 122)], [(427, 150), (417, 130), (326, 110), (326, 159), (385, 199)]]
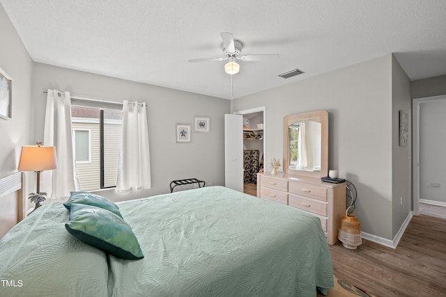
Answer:
[(234, 112), (243, 116), (243, 193), (256, 196), (257, 173), (266, 158), (265, 106)]

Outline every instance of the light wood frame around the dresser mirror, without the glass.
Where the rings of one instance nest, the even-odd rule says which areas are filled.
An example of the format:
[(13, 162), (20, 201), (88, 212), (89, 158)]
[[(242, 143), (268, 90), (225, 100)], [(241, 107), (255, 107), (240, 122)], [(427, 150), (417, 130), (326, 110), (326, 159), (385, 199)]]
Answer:
[[(289, 163), (289, 125), (295, 122), (314, 121), (321, 123), (321, 171), (306, 171), (290, 169)], [(284, 117), (284, 159), (283, 169), (289, 175), (304, 175), (308, 177), (326, 177), (328, 176), (328, 112), (312, 111), (309, 113), (295, 113)]]

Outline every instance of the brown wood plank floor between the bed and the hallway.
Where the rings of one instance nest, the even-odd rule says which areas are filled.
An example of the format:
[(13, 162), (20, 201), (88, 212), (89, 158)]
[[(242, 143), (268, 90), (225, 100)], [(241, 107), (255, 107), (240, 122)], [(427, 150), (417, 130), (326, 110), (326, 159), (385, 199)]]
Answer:
[(374, 296), (446, 296), (444, 219), (420, 212), (396, 249), (362, 239), (356, 250), (337, 243), (330, 253), (338, 278)]

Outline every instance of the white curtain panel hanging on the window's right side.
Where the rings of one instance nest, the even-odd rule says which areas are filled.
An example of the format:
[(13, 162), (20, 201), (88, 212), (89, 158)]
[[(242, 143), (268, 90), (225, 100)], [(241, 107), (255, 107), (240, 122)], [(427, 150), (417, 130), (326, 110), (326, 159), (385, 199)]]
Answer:
[(123, 102), (123, 133), (116, 191), (151, 188), (146, 103)]

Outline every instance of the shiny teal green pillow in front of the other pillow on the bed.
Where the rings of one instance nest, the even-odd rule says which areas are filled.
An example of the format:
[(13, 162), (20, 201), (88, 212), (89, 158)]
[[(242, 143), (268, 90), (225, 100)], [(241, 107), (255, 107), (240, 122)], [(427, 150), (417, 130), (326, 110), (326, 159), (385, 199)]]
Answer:
[(65, 227), (77, 239), (116, 257), (144, 258), (132, 227), (107, 209), (73, 203), (70, 206), (70, 220)]

